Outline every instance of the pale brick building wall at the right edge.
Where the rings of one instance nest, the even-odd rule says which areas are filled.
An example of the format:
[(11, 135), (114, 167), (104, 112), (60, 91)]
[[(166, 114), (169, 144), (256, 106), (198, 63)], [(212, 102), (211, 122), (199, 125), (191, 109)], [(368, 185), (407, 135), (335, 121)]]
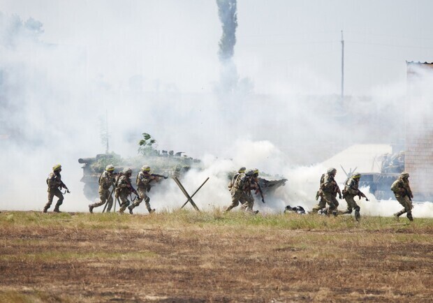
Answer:
[(433, 198), (433, 64), (406, 62), (405, 170), (418, 199)]

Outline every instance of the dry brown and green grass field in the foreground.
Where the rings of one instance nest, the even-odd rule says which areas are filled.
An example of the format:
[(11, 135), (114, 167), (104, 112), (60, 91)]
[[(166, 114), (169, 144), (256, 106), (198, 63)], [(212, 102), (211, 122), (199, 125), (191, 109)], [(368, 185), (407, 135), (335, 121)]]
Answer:
[(433, 220), (0, 214), (0, 302), (432, 302)]

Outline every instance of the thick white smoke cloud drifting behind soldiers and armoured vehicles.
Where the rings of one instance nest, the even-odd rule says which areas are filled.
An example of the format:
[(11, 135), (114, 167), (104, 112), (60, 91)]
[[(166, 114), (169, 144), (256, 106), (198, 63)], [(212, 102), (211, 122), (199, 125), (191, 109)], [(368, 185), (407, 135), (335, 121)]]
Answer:
[[(237, 22), (235, 1), (227, 3), (232, 3), (229, 16)], [(344, 101), (314, 94), (326, 82), (316, 75), (308, 77), (314, 77), (314, 82), (306, 80), (302, 85), (275, 84), (268, 95), (253, 94), (251, 89), (237, 89), (231, 96), (191, 93), (171, 79), (151, 77), (146, 71), (115, 76), (92, 73), (89, 47), (45, 43), (43, 22), (0, 15), (0, 158), (7, 172), (0, 177), (0, 209), (41, 210), (47, 195), (45, 179), (52, 165), (61, 163), (64, 182), (72, 191), (61, 208), (87, 211), (78, 158), (105, 151), (100, 131), (105, 113), (110, 149), (124, 157), (136, 155), (140, 135), (147, 132), (158, 140), (159, 149), (202, 158), (205, 170), (191, 171), (184, 181), (193, 193), (210, 177), (194, 198), (202, 209), (230, 204), (226, 176), (240, 166), (288, 179), (265, 205), (256, 203), (261, 212), (281, 212), (285, 205), (311, 209), (318, 179), (327, 169), (317, 163), (355, 143), (401, 138), (404, 83), (378, 89), (371, 98)], [(112, 24), (115, 28), (117, 24)], [(231, 30), (234, 35), (235, 27)], [(235, 39), (230, 41), (234, 47)], [(101, 56), (110, 52), (105, 45), (96, 49)], [(211, 53), (217, 59), (217, 50)], [(230, 56), (234, 66), (233, 52)], [(119, 70), (124, 63), (113, 59), (105, 65)], [(212, 83), (217, 70), (215, 62), (203, 77)], [(182, 74), (184, 69), (175, 72)], [(229, 82), (239, 88), (242, 80), (237, 80), (237, 71), (235, 75), (236, 81)], [(248, 81), (245, 87), (251, 87)], [(155, 186), (151, 194), (156, 209), (175, 209), (185, 200), (170, 179)], [(372, 198), (370, 203), (362, 202), (364, 214), (385, 216), (399, 209), (395, 201)], [(418, 209), (414, 216), (420, 216)], [(145, 213), (143, 209), (137, 212)], [(431, 209), (426, 212), (431, 213)]]

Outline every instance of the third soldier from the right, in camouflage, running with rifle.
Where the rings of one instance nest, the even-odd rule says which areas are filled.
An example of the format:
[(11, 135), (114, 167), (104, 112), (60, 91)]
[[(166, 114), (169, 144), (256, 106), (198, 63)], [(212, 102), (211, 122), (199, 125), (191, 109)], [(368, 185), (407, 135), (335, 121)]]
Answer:
[(326, 174), (323, 174), (321, 177), (321, 187), (318, 194), (321, 195), (325, 203), (328, 203), (328, 216), (330, 214), (337, 216), (338, 214), (337, 207), (339, 203), (336, 198), (337, 193), (339, 194), (339, 198), (342, 199), (342, 193), (335, 181), (336, 174), (337, 170), (335, 168), (329, 168)]

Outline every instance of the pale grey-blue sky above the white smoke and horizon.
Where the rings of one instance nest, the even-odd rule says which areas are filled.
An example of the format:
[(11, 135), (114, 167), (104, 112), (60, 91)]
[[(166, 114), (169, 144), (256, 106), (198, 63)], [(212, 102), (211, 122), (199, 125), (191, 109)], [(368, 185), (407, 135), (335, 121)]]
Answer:
[[(320, 82), (311, 94), (339, 94), (343, 31), (344, 91), (368, 96), (404, 81), (406, 60), (433, 60), (432, 6), (240, 0), (235, 62), (242, 77), (254, 79), (258, 93), (304, 92), (302, 82), (309, 80)], [(212, 90), (217, 81), (221, 26), (214, 1), (1, 0), (0, 10), (41, 21), (47, 43), (85, 50), (89, 77), (145, 74), (196, 92)]]

